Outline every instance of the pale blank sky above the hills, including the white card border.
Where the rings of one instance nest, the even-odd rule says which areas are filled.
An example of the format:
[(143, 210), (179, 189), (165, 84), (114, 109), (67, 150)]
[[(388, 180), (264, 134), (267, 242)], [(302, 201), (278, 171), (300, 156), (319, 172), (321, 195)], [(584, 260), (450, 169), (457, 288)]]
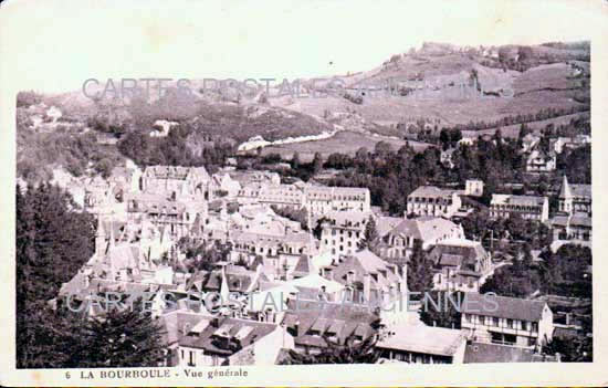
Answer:
[[(103, 4), (103, 6), (102, 6)], [(20, 90), (87, 78), (314, 77), (367, 71), (422, 42), (589, 40), (607, 9), (586, 0), (8, 0), (0, 59)], [(601, 8), (601, 7), (600, 7)]]

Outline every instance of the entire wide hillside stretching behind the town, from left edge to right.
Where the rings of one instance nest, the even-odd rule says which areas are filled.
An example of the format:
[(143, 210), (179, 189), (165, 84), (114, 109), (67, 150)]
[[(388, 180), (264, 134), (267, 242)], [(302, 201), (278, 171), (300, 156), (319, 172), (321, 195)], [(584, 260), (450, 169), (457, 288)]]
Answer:
[[(195, 80), (192, 93), (177, 93), (170, 83), (160, 98), (22, 92), (17, 102), (18, 174), (45, 179), (55, 167), (97, 174), (123, 162), (125, 156), (139, 162), (177, 162), (181, 159), (170, 156), (177, 149), (191, 153), (188, 162), (216, 164), (231, 151), (227, 147), (234, 150), (256, 136), (275, 141), (340, 130), (352, 134), (348, 140), (343, 134), (265, 150), (285, 156), (298, 148), (306, 155), (352, 153), (373, 146), (374, 134), (396, 139), (395, 145), (417, 134), (429, 141), (443, 127), (461, 127), (468, 136), (505, 127), (516, 136), (516, 123), (536, 123), (532, 127), (538, 129), (588, 115), (589, 52), (588, 42), (475, 48), (424, 43), (373, 70), (315, 83), (291, 80), (301, 84), (306, 98), (285, 95), (276, 84), (268, 93), (260, 88), (244, 94), (231, 87), (207, 90)], [(101, 91), (103, 84), (90, 92)], [(313, 92), (324, 96), (311, 97)], [(158, 120), (186, 132), (150, 139)], [(128, 147), (118, 147), (126, 137)], [(141, 141), (147, 155), (138, 158), (134, 153)], [(209, 151), (218, 143), (221, 151)]]

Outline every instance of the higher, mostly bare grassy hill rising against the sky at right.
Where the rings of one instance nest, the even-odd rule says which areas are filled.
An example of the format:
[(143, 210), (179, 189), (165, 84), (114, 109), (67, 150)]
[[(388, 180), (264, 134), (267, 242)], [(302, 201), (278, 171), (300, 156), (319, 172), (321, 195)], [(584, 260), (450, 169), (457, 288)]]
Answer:
[[(271, 102), (313, 115), (355, 111), (368, 122), (388, 126), (401, 123), (405, 127), (420, 119), (441, 127), (547, 108), (585, 111), (589, 105), (589, 44), (549, 44), (455, 48), (428, 43), (396, 54), (373, 71), (336, 76), (335, 82), (345, 85), (348, 93), (361, 95), (361, 104), (337, 91), (323, 99)], [(386, 96), (370, 92), (386, 88), (389, 80), (397, 83), (400, 93)], [(463, 91), (461, 85), (469, 87)], [(471, 93), (476, 85), (481, 90), (478, 95)]]

